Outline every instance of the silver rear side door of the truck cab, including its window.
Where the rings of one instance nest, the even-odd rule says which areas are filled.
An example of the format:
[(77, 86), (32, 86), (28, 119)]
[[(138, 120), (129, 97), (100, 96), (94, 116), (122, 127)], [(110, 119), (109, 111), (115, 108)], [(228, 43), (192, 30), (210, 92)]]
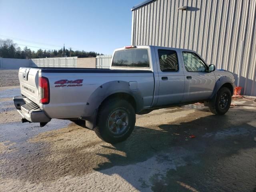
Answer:
[(155, 48), (159, 76), (157, 106), (170, 105), (182, 101), (184, 73), (180, 56), (175, 49)]

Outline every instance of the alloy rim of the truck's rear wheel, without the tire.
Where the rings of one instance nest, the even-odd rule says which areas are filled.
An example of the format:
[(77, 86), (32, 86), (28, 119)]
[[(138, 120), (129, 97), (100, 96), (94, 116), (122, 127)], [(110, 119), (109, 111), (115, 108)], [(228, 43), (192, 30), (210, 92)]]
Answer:
[(108, 129), (112, 134), (122, 134), (128, 127), (129, 117), (127, 112), (118, 109), (108, 118)]

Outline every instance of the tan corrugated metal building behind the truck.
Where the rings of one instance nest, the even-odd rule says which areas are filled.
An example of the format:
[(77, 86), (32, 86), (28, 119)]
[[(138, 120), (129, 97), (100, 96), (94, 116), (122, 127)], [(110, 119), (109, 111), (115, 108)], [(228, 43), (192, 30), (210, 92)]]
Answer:
[(132, 45), (195, 50), (256, 96), (255, 23), (256, 0), (147, 0), (132, 8)]

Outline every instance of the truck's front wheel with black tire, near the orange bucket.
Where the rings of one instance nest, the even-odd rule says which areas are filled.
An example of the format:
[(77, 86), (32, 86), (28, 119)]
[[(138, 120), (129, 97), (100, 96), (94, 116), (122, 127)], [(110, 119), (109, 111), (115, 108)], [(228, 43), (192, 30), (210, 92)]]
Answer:
[(220, 88), (216, 94), (214, 106), (209, 107), (210, 112), (216, 115), (224, 115), (230, 108), (231, 98), (232, 95), (228, 88)]

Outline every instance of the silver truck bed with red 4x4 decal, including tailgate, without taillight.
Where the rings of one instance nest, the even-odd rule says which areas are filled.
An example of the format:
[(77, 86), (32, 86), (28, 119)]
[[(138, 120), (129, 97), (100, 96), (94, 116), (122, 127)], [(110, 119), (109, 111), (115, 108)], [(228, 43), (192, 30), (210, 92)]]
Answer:
[[(48, 104), (39, 101), (40, 76), (49, 81)], [(36, 103), (51, 118), (90, 116), (96, 104), (116, 90), (141, 97), (142, 108), (151, 106), (154, 95), (154, 74), (151, 70), (20, 68), (19, 80), (22, 96)]]

